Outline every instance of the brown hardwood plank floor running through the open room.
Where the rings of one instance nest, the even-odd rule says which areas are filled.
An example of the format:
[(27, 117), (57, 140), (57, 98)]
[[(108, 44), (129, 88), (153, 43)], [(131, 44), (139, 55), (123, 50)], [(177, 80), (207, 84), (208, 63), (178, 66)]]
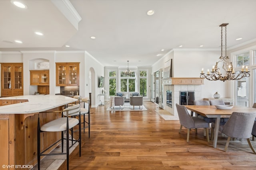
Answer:
[[(217, 148), (203, 130), (186, 129), (179, 121), (165, 121), (163, 111), (144, 102), (148, 111), (105, 111), (108, 104), (91, 109), (91, 133), (82, 133), (82, 156), (70, 160), (71, 170), (256, 170), (256, 155), (246, 140), (231, 141), (219, 134)], [(256, 141), (252, 141), (256, 149)]]

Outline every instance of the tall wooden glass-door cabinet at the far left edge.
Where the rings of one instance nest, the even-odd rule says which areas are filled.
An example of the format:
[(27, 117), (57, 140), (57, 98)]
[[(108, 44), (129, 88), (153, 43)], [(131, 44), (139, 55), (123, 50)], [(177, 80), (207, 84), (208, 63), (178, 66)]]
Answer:
[(2, 97), (23, 95), (23, 63), (1, 63)]

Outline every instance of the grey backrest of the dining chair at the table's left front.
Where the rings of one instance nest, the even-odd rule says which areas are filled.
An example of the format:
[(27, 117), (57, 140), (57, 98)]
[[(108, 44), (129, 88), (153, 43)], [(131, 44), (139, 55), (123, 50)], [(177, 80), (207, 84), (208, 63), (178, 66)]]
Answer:
[(176, 108), (178, 111), (178, 116), (180, 119), (180, 125), (190, 128), (195, 126), (195, 122), (188, 113), (188, 110), (185, 106), (179, 105), (176, 103)]

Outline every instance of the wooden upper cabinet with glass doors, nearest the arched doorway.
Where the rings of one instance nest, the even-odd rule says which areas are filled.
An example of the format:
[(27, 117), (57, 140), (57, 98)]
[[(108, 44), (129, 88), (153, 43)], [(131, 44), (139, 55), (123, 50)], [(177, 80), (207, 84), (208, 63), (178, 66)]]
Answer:
[(79, 63), (56, 63), (56, 86), (79, 86)]

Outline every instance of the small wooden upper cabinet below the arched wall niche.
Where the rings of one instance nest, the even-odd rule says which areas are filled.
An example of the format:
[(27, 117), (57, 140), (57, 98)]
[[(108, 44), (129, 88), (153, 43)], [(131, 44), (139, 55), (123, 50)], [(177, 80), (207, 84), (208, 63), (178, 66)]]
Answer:
[(30, 85), (49, 85), (49, 70), (30, 70)]

